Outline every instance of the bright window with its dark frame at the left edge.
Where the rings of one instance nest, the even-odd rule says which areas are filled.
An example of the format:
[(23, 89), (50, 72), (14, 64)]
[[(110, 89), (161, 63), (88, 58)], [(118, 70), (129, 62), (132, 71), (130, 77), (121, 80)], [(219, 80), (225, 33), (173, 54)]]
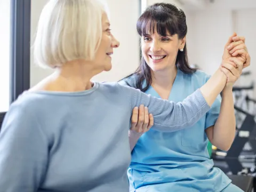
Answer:
[(29, 89), (31, 0), (0, 1), (0, 129), (10, 103)]

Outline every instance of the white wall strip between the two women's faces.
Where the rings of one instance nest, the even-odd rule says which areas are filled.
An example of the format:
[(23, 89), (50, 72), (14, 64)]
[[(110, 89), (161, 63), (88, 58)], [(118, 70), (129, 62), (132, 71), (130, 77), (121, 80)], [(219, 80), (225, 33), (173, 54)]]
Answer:
[(139, 36), (136, 22), (139, 18), (139, 1), (107, 0), (113, 34), (120, 42), (114, 50), (112, 69), (97, 75), (97, 81), (118, 81), (137, 69), (139, 58)]

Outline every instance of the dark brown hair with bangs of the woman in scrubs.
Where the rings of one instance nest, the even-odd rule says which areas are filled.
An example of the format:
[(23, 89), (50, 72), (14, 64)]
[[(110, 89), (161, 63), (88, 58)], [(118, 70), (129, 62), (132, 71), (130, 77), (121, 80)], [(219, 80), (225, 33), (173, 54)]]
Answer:
[[(181, 9), (173, 4), (153, 4), (149, 6), (138, 19), (137, 32), (140, 36), (145, 36), (148, 33), (154, 34), (155, 29), (157, 30), (156, 32), (161, 36), (166, 36), (168, 31), (171, 35), (177, 34), (178, 38), (182, 39), (187, 35), (186, 15)], [(191, 68), (188, 64), (186, 44), (183, 51), (178, 52), (175, 66), (186, 74), (191, 74), (196, 71), (196, 69)], [(130, 85), (127, 81), (126, 83), (129, 86), (140, 89), (142, 92), (147, 91), (152, 83), (152, 77), (150, 67), (147, 65), (143, 56), (137, 70), (127, 77), (133, 75), (136, 75), (135, 84)], [(146, 86), (143, 86), (143, 81), (145, 80)]]

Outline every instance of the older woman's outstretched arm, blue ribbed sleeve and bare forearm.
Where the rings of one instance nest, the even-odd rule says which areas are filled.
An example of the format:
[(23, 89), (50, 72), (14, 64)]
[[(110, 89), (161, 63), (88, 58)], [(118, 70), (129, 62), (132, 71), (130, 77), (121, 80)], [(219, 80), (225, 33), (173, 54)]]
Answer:
[(218, 69), (201, 89), (179, 103), (150, 97), (131, 87), (119, 86), (122, 87), (122, 92), (127, 95), (131, 111), (140, 104), (145, 105), (148, 107), (149, 113), (154, 116), (154, 125), (156, 125), (154, 129), (172, 132), (195, 124), (210, 109), (226, 81), (226, 75)]

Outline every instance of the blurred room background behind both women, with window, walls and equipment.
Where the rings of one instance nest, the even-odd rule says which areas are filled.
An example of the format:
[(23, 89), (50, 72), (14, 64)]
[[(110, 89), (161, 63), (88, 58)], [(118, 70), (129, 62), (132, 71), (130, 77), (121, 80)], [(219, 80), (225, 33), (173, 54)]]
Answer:
[[(0, 0), (0, 126), (10, 103), (29, 87), (52, 73), (33, 62), (33, 44), (39, 15), (47, 0)], [(207, 74), (219, 67), (228, 37), (236, 32), (246, 38), (251, 66), (244, 69), (234, 87), (237, 137), (229, 151), (209, 143), (209, 153), (227, 174), (256, 174), (256, 1), (255, 0), (107, 0), (111, 29), (121, 42), (113, 55), (113, 68), (94, 78), (118, 81), (131, 74), (140, 62), (136, 22), (148, 5), (173, 3), (187, 16), (187, 47), (190, 65)]]

